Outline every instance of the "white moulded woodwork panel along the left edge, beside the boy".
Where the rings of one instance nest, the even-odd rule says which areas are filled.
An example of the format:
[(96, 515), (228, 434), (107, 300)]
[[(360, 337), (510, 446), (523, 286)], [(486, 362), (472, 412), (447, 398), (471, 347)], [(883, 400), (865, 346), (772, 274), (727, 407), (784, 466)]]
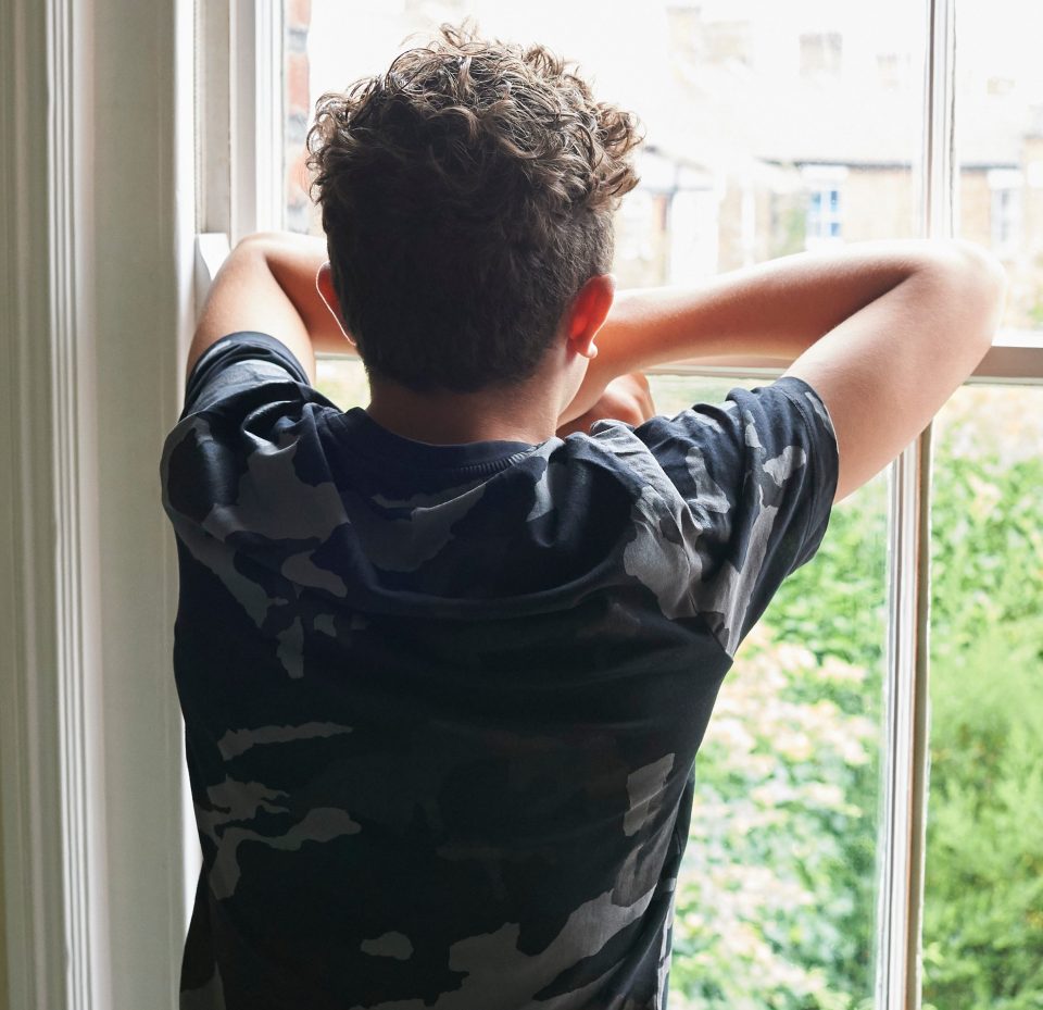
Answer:
[(0, 0), (0, 1010), (177, 1003), (192, 10)]

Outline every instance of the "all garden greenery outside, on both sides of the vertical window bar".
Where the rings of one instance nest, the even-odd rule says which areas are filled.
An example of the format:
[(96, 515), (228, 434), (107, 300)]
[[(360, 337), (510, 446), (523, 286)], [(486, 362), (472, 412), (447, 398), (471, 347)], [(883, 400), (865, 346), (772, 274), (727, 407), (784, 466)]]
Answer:
[[(1039, 390), (965, 389), (937, 429), (928, 1010), (1043, 1008), (1040, 408)], [(834, 512), (722, 689), (671, 1007), (872, 1005), (884, 490)]]

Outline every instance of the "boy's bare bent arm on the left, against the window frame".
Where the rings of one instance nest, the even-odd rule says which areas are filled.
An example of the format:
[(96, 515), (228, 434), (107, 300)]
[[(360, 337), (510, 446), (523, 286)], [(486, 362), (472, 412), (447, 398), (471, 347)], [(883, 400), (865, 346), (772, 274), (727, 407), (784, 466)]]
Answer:
[(312, 236), (251, 235), (239, 242), (206, 296), (188, 371), (223, 336), (255, 331), (285, 344), (314, 381), (315, 351), (348, 349), (340, 324), (315, 287), (326, 258), (325, 241)]

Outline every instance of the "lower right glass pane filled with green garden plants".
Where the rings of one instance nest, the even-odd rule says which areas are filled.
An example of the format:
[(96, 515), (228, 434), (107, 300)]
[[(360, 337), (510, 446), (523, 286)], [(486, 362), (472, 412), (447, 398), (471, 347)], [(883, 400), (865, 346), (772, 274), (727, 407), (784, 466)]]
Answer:
[(935, 424), (928, 1010), (1043, 1007), (1043, 389)]

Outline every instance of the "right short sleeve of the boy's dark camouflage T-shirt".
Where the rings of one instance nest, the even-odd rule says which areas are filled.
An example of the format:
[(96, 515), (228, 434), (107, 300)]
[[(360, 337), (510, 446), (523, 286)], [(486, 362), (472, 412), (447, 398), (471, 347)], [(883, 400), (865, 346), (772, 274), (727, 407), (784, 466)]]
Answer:
[(733, 656), (826, 533), (838, 477), (826, 407), (787, 377), (654, 417), (634, 435), (684, 501), (674, 535), (691, 562), (691, 606)]

